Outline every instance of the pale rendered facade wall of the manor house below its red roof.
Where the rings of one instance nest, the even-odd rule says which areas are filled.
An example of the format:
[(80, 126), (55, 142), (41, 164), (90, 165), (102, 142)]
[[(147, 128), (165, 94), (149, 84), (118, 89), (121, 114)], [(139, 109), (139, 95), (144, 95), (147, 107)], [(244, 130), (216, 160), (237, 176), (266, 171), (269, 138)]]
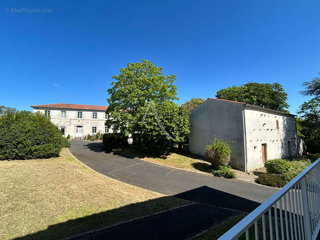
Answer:
[[(75, 110), (75, 109), (46, 109), (46, 108), (34, 108), (33, 112), (41, 112), (44, 114), (45, 110), (50, 110), (51, 122), (57, 125), (60, 129), (65, 127), (65, 136), (76, 136), (76, 126), (82, 126), (82, 136), (90, 134), (92, 135), (92, 127), (97, 127), (99, 130), (105, 132), (105, 111), (99, 110)], [(66, 118), (61, 118), (61, 111), (66, 111)], [(77, 118), (77, 113), (82, 112), (82, 119)], [(92, 113), (97, 113), (97, 119), (92, 119)], [(112, 132), (112, 129), (109, 129)]]

